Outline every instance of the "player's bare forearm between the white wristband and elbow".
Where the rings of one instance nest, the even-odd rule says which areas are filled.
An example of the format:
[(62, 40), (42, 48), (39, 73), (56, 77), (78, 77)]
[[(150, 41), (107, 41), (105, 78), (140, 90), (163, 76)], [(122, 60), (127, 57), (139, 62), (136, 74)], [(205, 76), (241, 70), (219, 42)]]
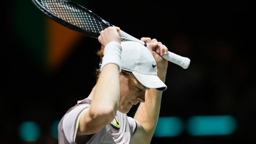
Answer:
[[(100, 74), (95, 86), (91, 103), (92, 117), (105, 116), (104, 121), (111, 121), (116, 115), (120, 98), (119, 70), (115, 64), (107, 64)], [(109, 117), (109, 118), (108, 118)]]

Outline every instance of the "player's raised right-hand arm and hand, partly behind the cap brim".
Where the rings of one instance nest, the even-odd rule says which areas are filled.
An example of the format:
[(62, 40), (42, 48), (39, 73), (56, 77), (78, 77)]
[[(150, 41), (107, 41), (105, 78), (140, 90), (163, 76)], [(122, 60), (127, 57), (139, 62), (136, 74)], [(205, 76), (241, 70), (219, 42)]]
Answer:
[[(157, 42), (156, 39), (142, 38), (141, 40), (149, 43), (149, 50), (157, 64), (157, 75), (165, 82), (168, 61), (161, 56), (168, 54), (167, 47), (161, 42)], [(154, 88), (146, 90), (145, 102), (140, 103), (134, 116), (139, 124), (136, 133), (132, 137), (132, 144), (150, 144), (159, 117), (162, 93), (163, 91)]]

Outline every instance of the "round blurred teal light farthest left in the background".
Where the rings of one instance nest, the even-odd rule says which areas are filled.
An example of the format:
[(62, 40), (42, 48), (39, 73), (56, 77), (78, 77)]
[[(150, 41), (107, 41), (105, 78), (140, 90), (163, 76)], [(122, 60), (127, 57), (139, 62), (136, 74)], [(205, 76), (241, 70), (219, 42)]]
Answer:
[(39, 125), (33, 121), (25, 121), (19, 127), (19, 136), (27, 142), (37, 141), (41, 135)]

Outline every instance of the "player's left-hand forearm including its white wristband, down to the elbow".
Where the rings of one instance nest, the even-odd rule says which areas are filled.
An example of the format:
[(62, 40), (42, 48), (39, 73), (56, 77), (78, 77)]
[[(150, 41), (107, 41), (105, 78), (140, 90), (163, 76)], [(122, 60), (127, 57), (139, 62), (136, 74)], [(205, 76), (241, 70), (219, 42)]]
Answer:
[(91, 103), (90, 116), (92, 118), (105, 118), (105, 122), (110, 122), (116, 115), (120, 99), (121, 52), (120, 43), (115, 41), (109, 42), (104, 47), (104, 56), (100, 67), (101, 73)]

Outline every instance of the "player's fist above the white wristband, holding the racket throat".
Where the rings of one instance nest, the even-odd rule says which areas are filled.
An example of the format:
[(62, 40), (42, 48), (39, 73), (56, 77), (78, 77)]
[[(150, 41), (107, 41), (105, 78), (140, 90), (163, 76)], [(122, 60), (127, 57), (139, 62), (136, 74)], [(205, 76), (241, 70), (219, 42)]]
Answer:
[(115, 41), (121, 44), (120, 39), (120, 28), (119, 27), (107, 27), (100, 32), (98, 37), (99, 42), (102, 46), (106, 46), (109, 42)]

